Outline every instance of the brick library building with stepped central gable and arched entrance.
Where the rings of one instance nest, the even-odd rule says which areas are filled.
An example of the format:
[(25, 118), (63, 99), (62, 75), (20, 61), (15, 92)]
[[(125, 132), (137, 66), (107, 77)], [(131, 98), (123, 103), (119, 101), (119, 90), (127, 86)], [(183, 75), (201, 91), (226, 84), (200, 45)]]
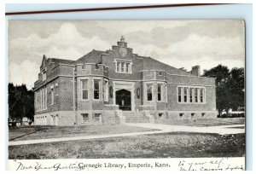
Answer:
[(216, 117), (215, 78), (132, 53), (125, 38), (77, 61), (43, 57), (35, 125), (164, 122)]

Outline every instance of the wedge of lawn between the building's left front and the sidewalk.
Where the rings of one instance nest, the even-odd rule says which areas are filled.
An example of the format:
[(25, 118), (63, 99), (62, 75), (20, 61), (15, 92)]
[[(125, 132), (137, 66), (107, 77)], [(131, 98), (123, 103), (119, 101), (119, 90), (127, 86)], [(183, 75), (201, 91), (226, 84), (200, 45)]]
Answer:
[(9, 128), (9, 141), (155, 131), (128, 125), (23, 126)]

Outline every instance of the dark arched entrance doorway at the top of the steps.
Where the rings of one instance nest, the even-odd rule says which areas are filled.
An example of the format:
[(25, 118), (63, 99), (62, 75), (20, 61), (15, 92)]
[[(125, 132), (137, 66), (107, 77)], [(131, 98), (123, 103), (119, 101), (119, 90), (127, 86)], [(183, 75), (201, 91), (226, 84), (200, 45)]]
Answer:
[(131, 111), (131, 91), (117, 90), (115, 93), (115, 102), (119, 105), (119, 109), (123, 111)]

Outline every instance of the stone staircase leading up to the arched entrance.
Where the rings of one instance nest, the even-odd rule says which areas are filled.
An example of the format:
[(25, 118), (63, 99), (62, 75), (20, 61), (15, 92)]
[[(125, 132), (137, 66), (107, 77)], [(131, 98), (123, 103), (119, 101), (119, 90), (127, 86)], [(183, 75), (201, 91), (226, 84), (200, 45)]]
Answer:
[(123, 111), (125, 123), (149, 123), (149, 118), (140, 112)]

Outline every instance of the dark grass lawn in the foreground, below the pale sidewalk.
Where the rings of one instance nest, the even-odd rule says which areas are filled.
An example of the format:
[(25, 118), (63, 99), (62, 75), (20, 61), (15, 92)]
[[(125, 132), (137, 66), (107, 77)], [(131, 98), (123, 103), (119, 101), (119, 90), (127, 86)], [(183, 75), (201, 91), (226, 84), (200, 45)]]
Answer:
[(245, 134), (166, 133), (9, 147), (9, 159), (200, 158), (245, 155)]

